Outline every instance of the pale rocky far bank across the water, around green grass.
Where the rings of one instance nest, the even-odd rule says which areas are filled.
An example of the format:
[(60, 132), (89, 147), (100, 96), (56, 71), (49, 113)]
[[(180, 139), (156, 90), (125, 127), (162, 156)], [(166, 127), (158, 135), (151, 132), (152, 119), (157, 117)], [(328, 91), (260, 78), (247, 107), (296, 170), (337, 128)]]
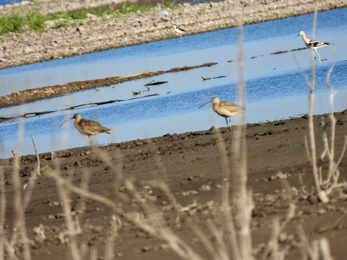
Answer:
[[(60, 1), (42, 2), (35, 4), (35, 7), (42, 12), (54, 12), (59, 10), (59, 3)], [(112, 3), (115, 4), (114, 1), (93, 1), (93, 5), (99, 6)], [(65, 10), (89, 7), (85, 1), (68, 0), (64, 5)], [(317, 2), (318, 11), (346, 6), (347, 2), (343, 0)], [(18, 8), (28, 10), (33, 6), (12, 6), (13, 11)], [(9, 5), (0, 8), (2, 14), (9, 10)], [(110, 20), (90, 16), (81, 20), (82, 25), (78, 27), (61, 27), (46, 33), (1, 36), (0, 69), (178, 37), (172, 23), (184, 27), (187, 30), (186, 35), (192, 35), (235, 27), (238, 18), (246, 25), (304, 15), (314, 10), (313, 0), (239, 0), (237, 4), (235, 1), (225, 0), (179, 5), (174, 10), (168, 9), (168, 16), (161, 17), (158, 15), (158, 8), (145, 13), (132, 12), (125, 17)], [(88, 24), (90, 21), (93, 22)]]

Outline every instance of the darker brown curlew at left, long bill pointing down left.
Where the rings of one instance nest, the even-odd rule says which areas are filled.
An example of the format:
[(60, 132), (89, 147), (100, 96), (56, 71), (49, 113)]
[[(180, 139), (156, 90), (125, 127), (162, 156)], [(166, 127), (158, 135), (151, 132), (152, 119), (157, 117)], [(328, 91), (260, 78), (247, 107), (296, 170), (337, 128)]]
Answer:
[[(82, 133), (82, 135), (88, 136), (92, 140), (92, 142), (93, 139), (91, 136), (97, 135), (98, 133), (110, 133), (109, 131), (111, 130), (107, 127), (103, 127), (98, 121), (81, 118), (80, 114), (74, 114), (72, 118), (66, 120), (65, 122), (71, 119), (75, 119), (74, 126), (76, 127), (78, 132)], [(60, 127), (64, 123), (62, 123)]]

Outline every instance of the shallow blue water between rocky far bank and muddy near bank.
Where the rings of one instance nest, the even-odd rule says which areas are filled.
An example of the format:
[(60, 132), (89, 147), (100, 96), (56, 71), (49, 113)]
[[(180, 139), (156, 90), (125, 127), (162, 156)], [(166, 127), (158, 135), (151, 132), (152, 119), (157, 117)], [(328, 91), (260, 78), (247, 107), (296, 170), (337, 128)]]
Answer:
[[(299, 66), (311, 77), (309, 69), (311, 54), (309, 50), (290, 50), (305, 46), (301, 37), (294, 38), (294, 36), (300, 30), (306, 31), (307, 35), (311, 34), (312, 17), (313, 15), (306, 15), (244, 27), (247, 122), (286, 119), (308, 112), (309, 88)], [(335, 111), (346, 109), (346, 22), (346, 8), (318, 14), (315, 38), (335, 44), (319, 49), (321, 59), (327, 60), (322, 61), (322, 65), (315, 66), (315, 114), (329, 112), (325, 77), (334, 59), (334, 50), (336, 50), (337, 63), (332, 71), (330, 84), (337, 90)], [(211, 106), (206, 105), (200, 110), (198, 108), (214, 96), (237, 103), (239, 70), (238, 62), (235, 61), (236, 35), (237, 29), (232, 28), (187, 36), (183, 41), (176, 38), (0, 70), (0, 92), (1, 95), (6, 95), (16, 90), (65, 84), (77, 80), (125, 76), (146, 69), (158, 71), (218, 62), (212, 67), (166, 73), (102, 87), (99, 91), (91, 89), (64, 97), (1, 109), (2, 116), (38, 111), (57, 112), (25, 118), (20, 120), (19, 124), (18, 121), (1, 123), (0, 156), (11, 156), (12, 148), (17, 149), (19, 154), (33, 154), (30, 133), (35, 137), (39, 152), (87, 146), (88, 138), (74, 129), (72, 121), (59, 128), (65, 117), (71, 117), (74, 113), (80, 113), (83, 118), (97, 120), (112, 129), (111, 135), (100, 134), (93, 137), (98, 144), (155, 137), (166, 133), (204, 130), (209, 129), (212, 124), (218, 127), (226, 126), (224, 118), (211, 112)], [(270, 54), (277, 51), (289, 52)], [(234, 61), (227, 62), (229, 60)], [(227, 77), (204, 81), (201, 76)], [(144, 85), (153, 79), (169, 83), (151, 86), (151, 90), (142, 92), (141, 96), (157, 92), (160, 95), (61, 111), (68, 106), (83, 103), (137, 97), (132, 95), (132, 91), (145, 90)], [(166, 94), (167, 92), (170, 93)], [(232, 118), (232, 124), (235, 124), (237, 119), (237, 116)], [(23, 134), (20, 128), (18, 130), (18, 125), (23, 125)], [(68, 130), (69, 135), (65, 130)]]

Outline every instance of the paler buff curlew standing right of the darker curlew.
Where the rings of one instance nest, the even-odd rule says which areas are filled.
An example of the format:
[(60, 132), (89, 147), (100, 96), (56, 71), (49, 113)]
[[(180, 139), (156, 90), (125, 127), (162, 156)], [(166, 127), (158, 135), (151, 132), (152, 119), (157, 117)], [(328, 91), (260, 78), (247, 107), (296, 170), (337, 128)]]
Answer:
[[(230, 116), (234, 116), (238, 113), (242, 113), (242, 112), (246, 111), (246, 109), (244, 107), (236, 105), (236, 104), (229, 102), (229, 101), (220, 101), (218, 97), (212, 98), (212, 100), (210, 102), (206, 102), (203, 105), (206, 105), (209, 103), (213, 103), (212, 108), (213, 108), (214, 112), (216, 112), (220, 116), (225, 117), (225, 120), (227, 121), (227, 128), (228, 128), (228, 119), (227, 118), (229, 118), (229, 123), (230, 123), (230, 127), (231, 127)], [(202, 107), (203, 105), (201, 105), (200, 107)], [(200, 109), (200, 107), (199, 107), (199, 109)]]

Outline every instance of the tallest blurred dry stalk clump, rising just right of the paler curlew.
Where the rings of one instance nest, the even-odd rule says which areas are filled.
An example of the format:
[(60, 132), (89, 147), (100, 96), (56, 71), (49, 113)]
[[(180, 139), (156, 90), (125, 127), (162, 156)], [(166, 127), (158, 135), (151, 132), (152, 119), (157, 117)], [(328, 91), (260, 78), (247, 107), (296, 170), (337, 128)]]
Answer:
[[(235, 9), (239, 12), (240, 7), (236, 3)], [(245, 107), (246, 104), (246, 85), (245, 85), (245, 73), (243, 63), (243, 25), (242, 21), (238, 20), (238, 69), (240, 80), (238, 84), (239, 103)], [(222, 173), (225, 180), (222, 189), (222, 213), (224, 217), (224, 224), (227, 229), (227, 238), (229, 245), (232, 249), (232, 258), (237, 260), (252, 260), (252, 234), (250, 230), (252, 210), (253, 210), (253, 196), (252, 192), (247, 190), (247, 144), (245, 137), (246, 130), (246, 116), (245, 113), (239, 115), (239, 122), (236, 125), (236, 129), (232, 138), (232, 151), (233, 151), (233, 167), (230, 167), (229, 159), (227, 155), (227, 148), (224, 140), (221, 137), (220, 130), (214, 129), (215, 137), (217, 138), (217, 144), (219, 153), (222, 160)], [(230, 206), (230, 182), (231, 182), (231, 168), (235, 173), (238, 187), (235, 189), (234, 195), (237, 201), (237, 210), (235, 214), (235, 220), (232, 215), (232, 208)], [(234, 222), (235, 221), (235, 222)], [(222, 239), (223, 232), (218, 230), (213, 223), (209, 222), (209, 227), (218, 241), (218, 253), (219, 259), (230, 259), (230, 252), (227, 250), (227, 246)], [(240, 231), (237, 233), (236, 229)]]

